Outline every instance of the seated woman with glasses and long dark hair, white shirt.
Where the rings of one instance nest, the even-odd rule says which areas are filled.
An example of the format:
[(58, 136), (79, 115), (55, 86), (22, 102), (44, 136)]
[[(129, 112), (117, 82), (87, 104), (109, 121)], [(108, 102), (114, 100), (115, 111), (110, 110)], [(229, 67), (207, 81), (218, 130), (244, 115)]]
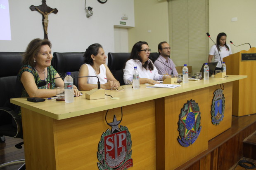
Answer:
[(147, 42), (139, 41), (133, 45), (131, 55), (123, 69), (123, 80), (125, 84), (133, 83), (133, 70), (137, 67), (140, 75), (140, 84), (159, 84), (169, 77), (168, 75), (159, 75), (153, 62), (149, 59), (150, 49)]

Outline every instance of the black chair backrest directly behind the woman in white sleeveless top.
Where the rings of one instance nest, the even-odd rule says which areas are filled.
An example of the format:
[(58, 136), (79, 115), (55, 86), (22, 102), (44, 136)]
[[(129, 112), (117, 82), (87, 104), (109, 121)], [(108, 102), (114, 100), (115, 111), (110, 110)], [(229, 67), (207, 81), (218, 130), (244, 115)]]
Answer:
[[(66, 77), (66, 72), (71, 72), (71, 77), (78, 77), (80, 66), (85, 63), (84, 52), (53, 53), (52, 66), (60, 77)], [(78, 87), (78, 79), (74, 78), (74, 85)]]

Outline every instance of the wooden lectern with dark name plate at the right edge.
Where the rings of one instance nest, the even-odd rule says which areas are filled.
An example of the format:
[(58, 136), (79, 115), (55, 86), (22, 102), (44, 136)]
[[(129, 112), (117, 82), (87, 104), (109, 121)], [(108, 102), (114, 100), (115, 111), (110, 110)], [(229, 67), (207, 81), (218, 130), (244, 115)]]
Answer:
[(227, 75), (247, 75), (233, 82), (232, 115), (256, 113), (256, 48), (242, 50), (223, 58)]

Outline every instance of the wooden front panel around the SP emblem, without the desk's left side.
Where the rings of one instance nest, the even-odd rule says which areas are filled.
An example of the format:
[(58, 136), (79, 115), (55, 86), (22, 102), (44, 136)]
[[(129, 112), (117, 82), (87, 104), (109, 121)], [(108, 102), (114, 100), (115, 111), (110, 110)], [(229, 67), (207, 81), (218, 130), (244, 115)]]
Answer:
[[(62, 170), (72, 169), (73, 164), (80, 169), (97, 169), (98, 143), (102, 133), (111, 129), (105, 122), (105, 114), (103, 111), (56, 121), (58, 150), (62, 151), (59, 153), (59, 167)], [(117, 120), (121, 120), (121, 109), (111, 109), (107, 114), (109, 123), (113, 121), (114, 114)], [(127, 126), (131, 134), (134, 167), (155, 170), (154, 100), (123, 107), (120, 125)], [(74, 155), (71, 158), (68, 156), (70, 152)]]

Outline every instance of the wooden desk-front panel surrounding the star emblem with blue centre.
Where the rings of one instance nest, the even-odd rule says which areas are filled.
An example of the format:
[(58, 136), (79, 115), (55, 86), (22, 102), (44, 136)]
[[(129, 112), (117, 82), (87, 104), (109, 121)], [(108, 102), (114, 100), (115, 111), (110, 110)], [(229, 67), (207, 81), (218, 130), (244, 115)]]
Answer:
[[(163, 103), (159, 103), (160, 107), (164, 107), (165, 109), (164, 112), (163, 109), (159, 109), (159, 111), (156, 110), (156, 117), (159, 116), (158, 118), (156, 118), (156, 123), (158, 124), (164, 122), (162, 128), (164, 126), (165, 138), (161, 145), (164, 145), (165, 152), (157, 152), (156, 155), (157, 157), (164, 157), (165, 162), (161, 161), (161, 166), (157, 166), (156, 169), (162, 169), (164, 165), (165, 169), (175, 169), (185, 163), (187, 160), (194, 158), (194, 156), (197, 156), (208, 148), (208, 123), (206, 117), (207, 101), (205, 100), (206, 98), (208, 98), (208, 88), (202, 88), (200, 90), (189, 91), (186, 93), (180, 93), (178, 95), (166, 97), (164, 105)], [(199, 137), (192, 145), (190, 145), (189, 147), (182, 147), (177, 140), (179, 136), (179, 114), (180, 109), (187, 102), (187, 100), (190, 99), (195, 100), (195, 102), (197, 102), (200, 107), (202, 128)], [(159, 102), (161, 102), (161, 100), (159, 100)], [(158, 105), (157, 101), (156, 105)], [(165, 116), (163, 116), (162, 114), (165, 114)], [(159, 130), (161, 130), (161, 128)], [(156, 130), (156, 133), (159, 133), (159, 130)]]

